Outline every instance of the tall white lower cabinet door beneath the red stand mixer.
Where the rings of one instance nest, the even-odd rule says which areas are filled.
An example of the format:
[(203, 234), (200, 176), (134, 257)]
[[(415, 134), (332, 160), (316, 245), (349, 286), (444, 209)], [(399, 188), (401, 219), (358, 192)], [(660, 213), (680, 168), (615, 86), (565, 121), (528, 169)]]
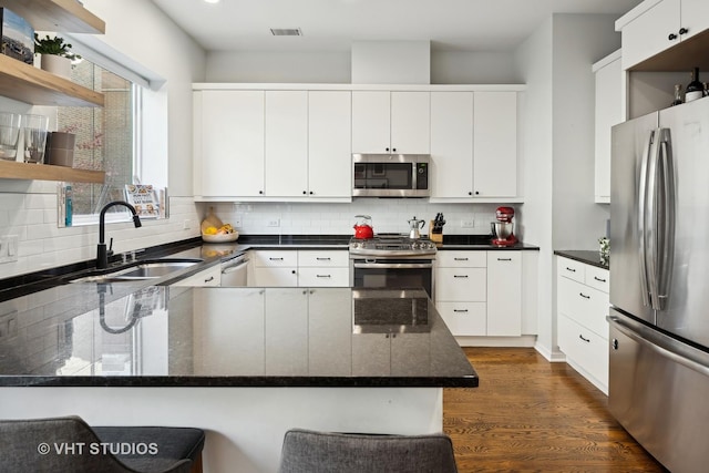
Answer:
[(487, 336), (522, 335), (522, 254), (487, 251)]

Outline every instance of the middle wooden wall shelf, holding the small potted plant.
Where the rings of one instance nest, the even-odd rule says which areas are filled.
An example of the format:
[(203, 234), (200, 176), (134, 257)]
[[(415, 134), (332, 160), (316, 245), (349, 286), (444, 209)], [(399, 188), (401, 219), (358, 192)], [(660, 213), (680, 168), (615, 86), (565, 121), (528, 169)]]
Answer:
[(32, 105), (103, 106), (103, 94), (0, 54), (0, 95)]

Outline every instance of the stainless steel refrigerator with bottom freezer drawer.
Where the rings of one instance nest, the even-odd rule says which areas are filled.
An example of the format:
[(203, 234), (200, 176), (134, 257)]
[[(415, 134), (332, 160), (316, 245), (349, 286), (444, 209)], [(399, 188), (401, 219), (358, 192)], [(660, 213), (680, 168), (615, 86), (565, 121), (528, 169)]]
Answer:
[(709, 467), (709, 99), (613, 128), (608, 407), (672, 472)]

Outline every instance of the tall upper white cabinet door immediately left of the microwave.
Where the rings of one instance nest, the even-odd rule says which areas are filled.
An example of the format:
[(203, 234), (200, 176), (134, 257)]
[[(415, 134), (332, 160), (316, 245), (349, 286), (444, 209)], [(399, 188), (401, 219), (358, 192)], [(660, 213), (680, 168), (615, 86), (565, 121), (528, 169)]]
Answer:
[(352, 196), (352, 93), (308, 93), (308, 195)]

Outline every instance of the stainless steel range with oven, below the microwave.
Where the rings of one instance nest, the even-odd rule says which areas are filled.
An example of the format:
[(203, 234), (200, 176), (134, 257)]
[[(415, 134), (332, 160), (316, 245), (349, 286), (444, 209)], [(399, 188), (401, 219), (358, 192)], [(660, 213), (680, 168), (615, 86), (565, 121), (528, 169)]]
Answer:
[(434, 297), (433, 261), (435, 244), (425, 238), (402, 235), (377, 235), (352, 238), (350, 286), (379, 288), (423, 288)]

